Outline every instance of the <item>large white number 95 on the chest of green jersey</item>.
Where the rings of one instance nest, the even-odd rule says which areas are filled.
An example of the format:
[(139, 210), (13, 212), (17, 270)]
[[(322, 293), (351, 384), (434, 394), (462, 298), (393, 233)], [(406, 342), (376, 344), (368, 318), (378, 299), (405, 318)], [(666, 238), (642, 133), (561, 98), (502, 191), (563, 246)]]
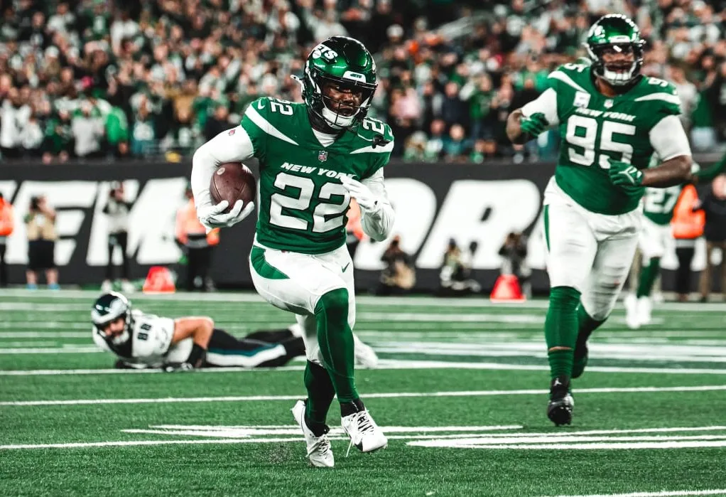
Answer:
[[(570, 145), (574, 145), (574, 147), (567, 150), (570, 161), (581, 166), (592, 166), (592, 163), (595, 163), (595, 155), (600, 153), (597, 162), (603, 169), (610, 169), (610, 163), (608, 162), (610, 158), (630, 163), (633, 156), (632, 145), (616, 142), (613, 140), (614, 134), (635, 136), (635, 126), (603, 121), (603, 127), (600, 130), (600, 144), (596, 146), (597, 121), (587, 116), (570, 116), (567, 120), (567, 132), (565, 134), (565, 140)], [(619, 156), (610, 153), (619, 153)]]

